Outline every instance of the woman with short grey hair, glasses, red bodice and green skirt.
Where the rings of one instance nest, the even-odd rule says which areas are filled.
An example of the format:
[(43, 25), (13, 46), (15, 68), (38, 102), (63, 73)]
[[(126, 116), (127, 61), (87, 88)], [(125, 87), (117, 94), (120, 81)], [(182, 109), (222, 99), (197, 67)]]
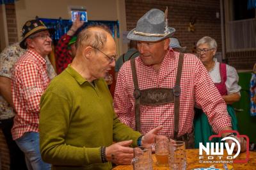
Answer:
[[(232, 120), (232, 129), (237, 130), (236, 112), (230, 104), (240, 100), (241, 87), (237, 84), (238, 75), (234, 67), (214, 61), (216, 50), (217, 43), (214, 38), (209, 36), (204, 36), (196, 43), (197, 56), (204, 64), (216, 88), (220, 91), (221, 97), (227, 103), (227, 111)], [(202, 109), (195, 109), (195, 112), (195, 148), (198, 148), (199, 143), (206, 146), (206, 143), (210, 142), (209, 136), (214, 132), (212, 132), (212, 127)], [(215, 138), (214, 140), (211, 142), (220, 142), (220, 139)]]

